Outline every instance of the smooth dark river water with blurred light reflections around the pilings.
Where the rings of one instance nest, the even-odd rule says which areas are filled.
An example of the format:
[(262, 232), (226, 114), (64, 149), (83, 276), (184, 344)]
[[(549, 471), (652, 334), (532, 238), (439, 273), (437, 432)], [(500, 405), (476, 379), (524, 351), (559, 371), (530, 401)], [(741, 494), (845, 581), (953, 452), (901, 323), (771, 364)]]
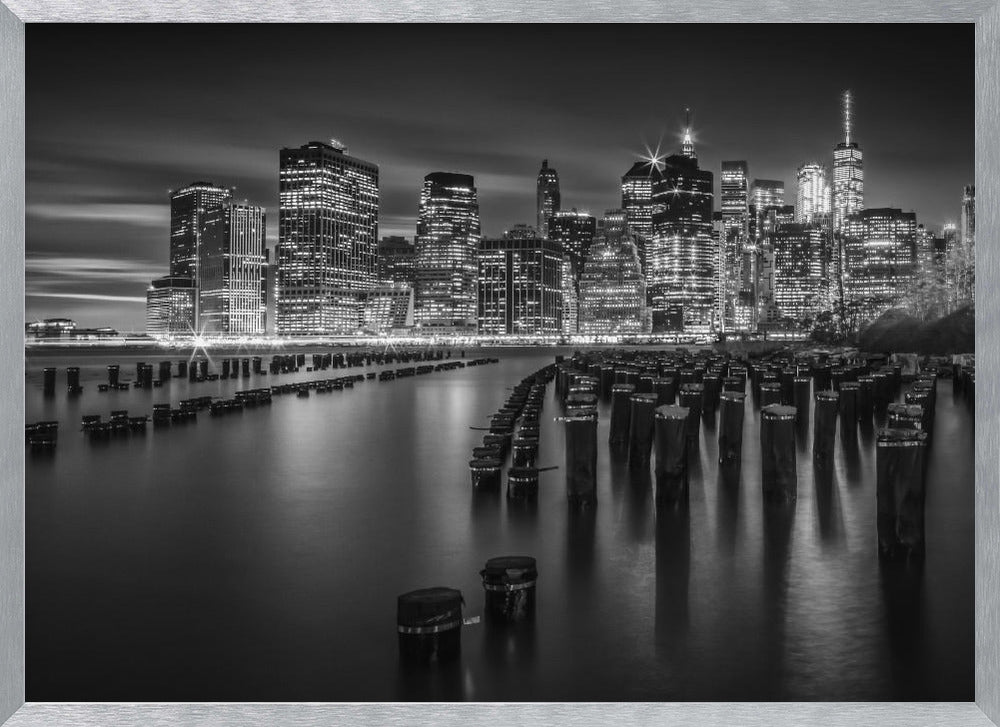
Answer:
[[(749, 398), (741, 481), (719, 480), (703, 428), (687, 513), (658, 516), (648, 476), (612, 460), (603, 405), (596, 511), (569, 511), (561, 469), (531, 509), (474, 497), (469, 426), (557, 352), (499, 350), (499, 365), (275, 397), (96, 446), (82, 414), (247, 383), (100, 394), (104, 364), (134, 378), (138, 358), (158, 359), (29, 358), (27, 419), (60, 433), (53, 457), (27, 456), (28, 701), (973, 699), (973, 422), (950, 382), (926, 563), (899, 571), (876, 556), (871, 433), (838, 433), (826, 487), (802, 442), (797, 504), (768, 508)], [(62, 392), (71, 363), (83, 396), (44, 400), (42, 366), (60, 367)], [(550, 385), (542, 465), (562, 465), (557, 414)], [(467, 626), (459, 664), (401, 670), (396, 596), (452, 586), (478, 615), (478, 572), (505, 554), (538, 560), (533, 633)]]

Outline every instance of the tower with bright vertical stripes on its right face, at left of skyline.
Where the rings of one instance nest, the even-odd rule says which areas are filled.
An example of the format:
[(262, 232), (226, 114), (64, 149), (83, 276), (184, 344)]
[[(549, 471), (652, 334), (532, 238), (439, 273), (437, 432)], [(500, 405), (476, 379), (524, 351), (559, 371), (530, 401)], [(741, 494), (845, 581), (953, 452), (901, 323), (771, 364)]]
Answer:
[(264, 208), (226, 202), (205, 215), (199, 251), (198, 330), (264, 333)]

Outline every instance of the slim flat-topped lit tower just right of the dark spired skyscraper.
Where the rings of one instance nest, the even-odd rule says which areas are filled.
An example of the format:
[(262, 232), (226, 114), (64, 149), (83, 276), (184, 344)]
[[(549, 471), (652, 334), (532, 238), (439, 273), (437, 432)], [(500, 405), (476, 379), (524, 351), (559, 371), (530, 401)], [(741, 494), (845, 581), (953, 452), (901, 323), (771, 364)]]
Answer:
[(752, 266), (749, 253), (750, 205), (745, 161), (722, 162), (720, 181), (721, 221), (719, 232), (720, 325), (723, 331), (749, 330), (753, 295), (744, 285), (749, 279), (745, 267)]

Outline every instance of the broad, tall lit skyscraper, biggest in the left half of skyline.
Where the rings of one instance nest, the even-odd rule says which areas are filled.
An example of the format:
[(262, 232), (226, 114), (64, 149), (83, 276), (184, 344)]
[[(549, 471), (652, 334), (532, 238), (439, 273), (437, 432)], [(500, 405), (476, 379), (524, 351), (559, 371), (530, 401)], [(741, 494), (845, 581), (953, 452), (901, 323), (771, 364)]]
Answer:
[(354, 333), (376, 284), (378, 166), (311, 141), (281, 150), (278, 191), (277, 333)]

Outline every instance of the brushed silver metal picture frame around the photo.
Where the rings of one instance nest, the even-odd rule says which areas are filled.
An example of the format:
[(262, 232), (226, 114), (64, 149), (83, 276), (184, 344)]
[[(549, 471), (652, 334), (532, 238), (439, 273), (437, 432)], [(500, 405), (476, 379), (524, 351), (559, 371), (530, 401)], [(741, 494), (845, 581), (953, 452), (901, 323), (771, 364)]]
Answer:
[[(929, 22), (975, 23), (976, 609), (974, 703), (234, 704), (25, 703), (23, 362), (25, 23), (37, 22)], [(609, 29), (609, 32), (612, 32)], [(900, 32), (905, 32), (901, 29)], [(942, 52), (942, 49), (929, 49)], [(933, 104), (933, 99), (929, 99)], [(1000, 2), (998, 0), (2, 0), (0, 2), (0, 723), (34, 725), (1000, 724)]]

